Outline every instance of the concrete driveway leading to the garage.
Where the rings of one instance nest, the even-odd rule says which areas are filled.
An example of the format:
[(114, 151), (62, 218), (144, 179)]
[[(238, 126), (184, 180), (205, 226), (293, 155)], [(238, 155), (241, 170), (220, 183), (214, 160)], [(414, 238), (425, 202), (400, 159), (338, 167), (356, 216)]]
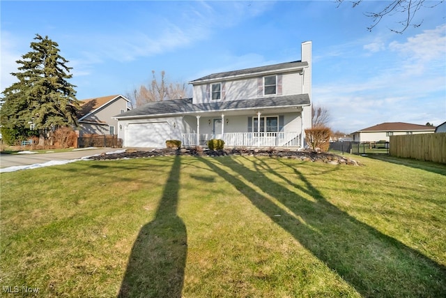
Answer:
[(15, 165), (34, 165), (36, 163), (46, 163), (47, 161), (70, 161), (72, 159), (101, 154), (103, 152), (113, 152), (117, 150), (121, 149), (100, 148), (45, 154), (0, 154), (0, 168), (13, 167)]

